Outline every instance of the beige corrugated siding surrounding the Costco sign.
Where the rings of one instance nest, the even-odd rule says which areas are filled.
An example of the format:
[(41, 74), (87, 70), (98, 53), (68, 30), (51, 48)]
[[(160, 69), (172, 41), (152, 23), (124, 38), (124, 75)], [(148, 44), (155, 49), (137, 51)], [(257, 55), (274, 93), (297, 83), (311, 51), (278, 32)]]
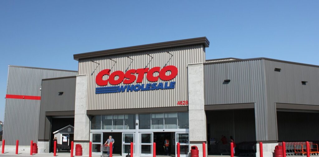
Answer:
[[(205, 61), (204, 50), (203, 45), (194, 45), (79, 60), (79, 74), (88, 75), (88, 110), (177, 106), (177, 101), (188, 100), (187, 64), (203, 63)], [(173, 56), (171, 57), (167, 52)], [(151, 60), (147, 54), (151, 55), (153, 59)], [(126, 71), (146, 66), (162, 68), (165, 65), (174, 65), (178, 68), (178, 75), (171, 80), (176, 81), (175, 89), (95, 94), (95, 88), (98, 87), (95, 77), (101, 70)], [(146, 75), (143, 83), (150, 83), (146, 80)]]

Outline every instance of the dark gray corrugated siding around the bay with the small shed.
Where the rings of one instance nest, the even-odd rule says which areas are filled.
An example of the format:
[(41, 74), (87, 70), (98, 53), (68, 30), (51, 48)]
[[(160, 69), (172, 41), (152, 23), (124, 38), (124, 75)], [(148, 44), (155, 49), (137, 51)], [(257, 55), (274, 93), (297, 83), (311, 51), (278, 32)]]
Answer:
[[(63, 79), (50, 79), (42, 81), (41, 106), (39, 116), (39, 139), (48, 140), (50, 136), (50, 123), (45, 116), (45, 112), (52, 111), (74, 111), (75, 106), (75, 86), (76, 77)], [(59, 95), (58, 92), (63, 92)]]

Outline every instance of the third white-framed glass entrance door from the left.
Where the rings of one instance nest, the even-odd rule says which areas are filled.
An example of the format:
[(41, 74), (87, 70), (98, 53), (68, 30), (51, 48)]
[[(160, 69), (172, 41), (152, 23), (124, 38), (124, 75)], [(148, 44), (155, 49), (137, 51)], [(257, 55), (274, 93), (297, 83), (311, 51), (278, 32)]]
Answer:
[(151, 157), (153, 156), (153, 133), (143, 132), (140, 133), (140, 156)]

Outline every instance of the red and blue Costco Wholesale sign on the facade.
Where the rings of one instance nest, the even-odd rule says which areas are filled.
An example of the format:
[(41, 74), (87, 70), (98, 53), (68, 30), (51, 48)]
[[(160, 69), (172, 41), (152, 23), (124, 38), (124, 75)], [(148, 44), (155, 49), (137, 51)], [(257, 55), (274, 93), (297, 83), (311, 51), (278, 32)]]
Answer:
[[(95, 82), (99, 86), (108, 86), (118, 85), (118, 84), (127, 84), (122, 86), (108, 86), (108, 87), (97, 87), (95, 93), (119, 93), (119, 92), (137, 92), (137, 91), (146, 91), (146, 90), (159, 90), (159, 89), (174, 89), (175, 82), (159, 82), (159, 83), (148, 83), (148, 84), (136, 84), (129, 85), (133, 82), (142, 83), (146, 73), (146, 79), (150, 82), (158, 82), (159, 79), (162, 81), (169, 81), (174, 79), (177, 76), (178, 69), (174, 65), (168, 65), (164, 68), (153, 67), (142, 68), (142, 69), (131, 69), (126, 71), (114, 71), (110, 72), (110, 69), (105, 69), (100, 71), (95, 78)], [(166, 75), (170, 71), (169, 75)], [(158, 74), (157, 76), (154, 76)], [(108, 79), (104, 80), (103, 77), (108, 75)], [(117, 79), (116, 79), (117, 78)]]

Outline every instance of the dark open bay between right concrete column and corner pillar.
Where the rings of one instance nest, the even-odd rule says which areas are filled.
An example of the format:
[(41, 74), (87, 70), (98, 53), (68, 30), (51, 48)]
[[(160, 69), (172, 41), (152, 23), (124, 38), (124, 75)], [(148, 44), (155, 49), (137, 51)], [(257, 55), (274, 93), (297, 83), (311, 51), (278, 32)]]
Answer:
[[(230, 136), (237, 145), (236, 154), (256, 153), (254, 109), (206, 111), (206, 118), (209, 155), (230, 153)], [(224, 136), (226, 142), (225, 139), (221, 139)]]

